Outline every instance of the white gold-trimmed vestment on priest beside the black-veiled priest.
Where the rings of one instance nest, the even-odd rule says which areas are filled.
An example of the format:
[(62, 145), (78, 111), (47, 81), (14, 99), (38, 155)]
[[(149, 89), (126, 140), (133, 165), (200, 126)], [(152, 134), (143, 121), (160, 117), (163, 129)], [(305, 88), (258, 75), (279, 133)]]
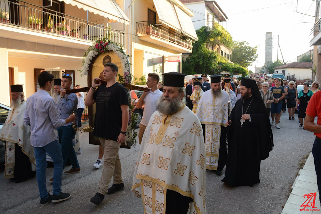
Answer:
[(230, 96), (227, 92), (222, 90), (221, 96), (214, 98), (212, 90), (208, 90), (203, 93), (196, 110), (196, 116), (201, 124), (205, 124), (206, 169), (217, 170), (221, 126), (226, 127), (228, 120), (228, 101)]

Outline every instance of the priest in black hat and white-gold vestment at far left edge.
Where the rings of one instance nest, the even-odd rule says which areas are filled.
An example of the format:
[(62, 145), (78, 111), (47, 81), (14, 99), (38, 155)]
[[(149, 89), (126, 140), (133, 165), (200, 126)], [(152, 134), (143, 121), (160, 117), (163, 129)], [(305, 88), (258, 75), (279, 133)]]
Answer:
[(0, 130), (6, 143), (5, 179), (20, 183), (36, 174), (34, 147), (30, 144), (30, 126), (25, 125), (26, 101), (22, 85), (11, 85), (11, 111)]

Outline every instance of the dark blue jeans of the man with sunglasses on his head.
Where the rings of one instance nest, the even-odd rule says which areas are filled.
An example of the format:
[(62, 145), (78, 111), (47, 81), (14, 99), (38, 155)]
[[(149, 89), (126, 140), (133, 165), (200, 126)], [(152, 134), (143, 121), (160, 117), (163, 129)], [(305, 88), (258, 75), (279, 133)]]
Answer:
[(62, 158), (64, 159), (64, 168), (66, 166), (67, 159), (69, 158), (72, 168), (78, 169), (80, 168), (80, 166), (78, 164), (75, 149), (72, 146), (72, 139), (74, 138), (76, 132), (72, 126), (73, 125), (61, 126), (57, 130), (59, 141), (61, 144)]

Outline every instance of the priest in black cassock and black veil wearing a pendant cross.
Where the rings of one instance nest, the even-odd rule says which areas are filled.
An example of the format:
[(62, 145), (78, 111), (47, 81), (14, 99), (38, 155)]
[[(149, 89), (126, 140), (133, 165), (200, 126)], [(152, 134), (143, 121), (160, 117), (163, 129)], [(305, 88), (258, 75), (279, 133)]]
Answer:
[[(273, 147), (273, 134), (255, 80), (242, 78), (241, 99), (229, 117), (229, 155), (223, 182), (253, 186), (260, 182), (260, 164)], [(227, 123), (228, 125), (228, 123)]]

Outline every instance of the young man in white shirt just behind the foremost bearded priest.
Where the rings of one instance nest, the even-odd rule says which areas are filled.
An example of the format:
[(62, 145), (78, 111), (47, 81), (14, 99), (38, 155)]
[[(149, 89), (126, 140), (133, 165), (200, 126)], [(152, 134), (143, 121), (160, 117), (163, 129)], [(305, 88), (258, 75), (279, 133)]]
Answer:
[(157, 87), (158, 82), (159, 75), (155, 73), (149, 73), (146, 84), (148, 88), (151, 88), (151, 90), (149, 92), (144, 92), (136, 104), (136, 108), (141, 108), (143, 105), (145, 105), (144, 115), (142, 116), (139, 124), (139, 144), (141, 144), (142, 137), (151, 115), (156, 111), (157, 101), (162, 97), (163, 94)]

